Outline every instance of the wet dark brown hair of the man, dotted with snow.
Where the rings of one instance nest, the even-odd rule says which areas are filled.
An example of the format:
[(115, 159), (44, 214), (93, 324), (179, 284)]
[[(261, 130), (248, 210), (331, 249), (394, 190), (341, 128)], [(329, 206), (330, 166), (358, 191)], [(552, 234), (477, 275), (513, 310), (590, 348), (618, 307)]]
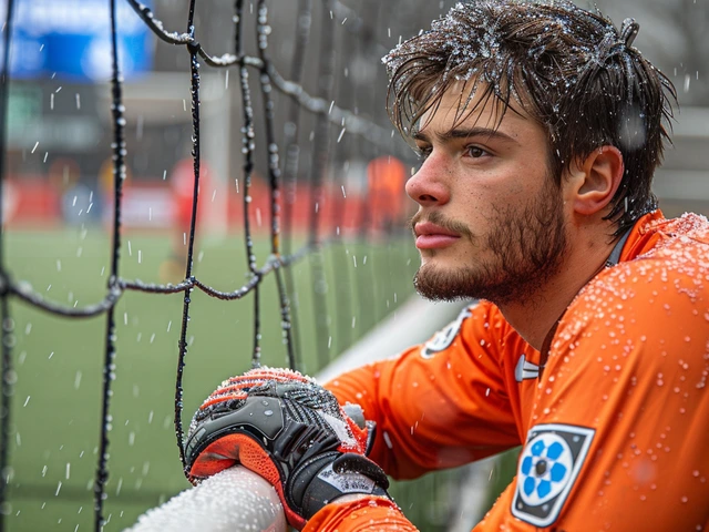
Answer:
[(546, 130), (557, 184), (573, 162), (616, 146), (625, 173), (605, 219), (619, 235), (657, 208), (650, 184), (677, 103), (672, 83), (633, 48), (638, 29), (626, 19), (618, 31), (600, 12), (567, 1), (459, 3), (383, 58), (391, 120), (411, 137), (462, 82), (470, 91), (454, 126), (475, 110), (467, 105), (475, 91), (475, 106), (492, 99), (499, 120), (514, 101)]

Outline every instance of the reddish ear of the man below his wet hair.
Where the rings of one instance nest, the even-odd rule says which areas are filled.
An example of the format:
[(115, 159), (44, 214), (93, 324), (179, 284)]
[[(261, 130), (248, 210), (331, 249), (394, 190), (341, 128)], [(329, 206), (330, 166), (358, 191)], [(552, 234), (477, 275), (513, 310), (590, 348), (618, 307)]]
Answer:
[(596, 214), (610, 203), (620, 185), (623, 154), (615, 146), (594, 150), (580, 165), (572, 165), (572, 197), (574, 211), (583, 215)]

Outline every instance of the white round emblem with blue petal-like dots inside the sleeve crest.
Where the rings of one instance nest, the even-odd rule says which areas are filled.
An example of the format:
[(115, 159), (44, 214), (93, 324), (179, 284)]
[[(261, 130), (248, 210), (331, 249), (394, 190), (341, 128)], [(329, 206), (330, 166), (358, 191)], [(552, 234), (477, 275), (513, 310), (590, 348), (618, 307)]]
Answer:
[(544, 432), (530, 440), (522, 452), (517, 493), (537, 507), (558, 495), (572, 478), (574, 458), (564, 438)]

